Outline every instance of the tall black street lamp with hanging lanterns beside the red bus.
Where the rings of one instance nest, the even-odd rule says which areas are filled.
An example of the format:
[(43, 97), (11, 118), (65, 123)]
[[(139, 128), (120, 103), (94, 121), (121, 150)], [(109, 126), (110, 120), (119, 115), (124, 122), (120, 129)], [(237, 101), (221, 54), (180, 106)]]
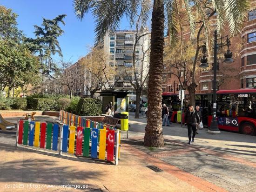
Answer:
[[(222, 43), (222, 39), (223, 38), (227, 38), (226, 43), (223, 44)], [(221, 43), (217, 43), (217, 40), (221, 40)], [(225, 36), (225, 37), (221, 37), (221, 38), (217, 38), (217, 31), (214, 31), (214, 63), (213, 63), (213, 108), (212, 108), (212, 121), (211, 121), (211, 125), (209, 127), (208, 132), (210, 133), (221, 133), (218, 127), (218, 122), (216, 119), (216, 90), (217, 90), (217, 80), (216, 80), (216, 71), (217, 71), (217, 49), (218, 47), (222, 47), (222, 46), (227, 46), (228, 50), (227, 53), (224, 54), (225, 60), (223, 60), (223, 63), (233, 63), (234, 60), (232, 59), (232, 52), (230, 52), (229, 46), (231, 45), (230, 40), (229, 40), (229, 36)], [(202, 48), (202, 53), (203, 53), (203, 57), (201, 59), (201, 65), (199, 67), (208, 67), (208, 60), (206, 58), (206, 46), (204, 45)]]

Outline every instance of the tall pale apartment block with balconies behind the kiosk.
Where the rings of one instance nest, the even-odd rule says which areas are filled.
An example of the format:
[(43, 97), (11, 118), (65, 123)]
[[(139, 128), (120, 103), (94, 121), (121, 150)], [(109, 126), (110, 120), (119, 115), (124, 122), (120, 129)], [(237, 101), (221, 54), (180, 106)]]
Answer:
[[(129, 90), (129, 100), (135, 101), (135, 90), (131, 82), (135, 83), (133, 67), (133, 49), (135, 46), (135, 73), (144, 80), (149, 68), (150, 33), (143, 31), (145, 35), (140, 38), (135, 46), (136, 30), (119, 30), (108, 33), (104, 38), (104, 51), (109, 54), (108, 64), (115, 66), (115, 74), (111, 79), (111, 85), (115, 89)], [(139, 34), (141, 35), (141, 33)], [(146, 100), (143, 96), (143, 101)]]

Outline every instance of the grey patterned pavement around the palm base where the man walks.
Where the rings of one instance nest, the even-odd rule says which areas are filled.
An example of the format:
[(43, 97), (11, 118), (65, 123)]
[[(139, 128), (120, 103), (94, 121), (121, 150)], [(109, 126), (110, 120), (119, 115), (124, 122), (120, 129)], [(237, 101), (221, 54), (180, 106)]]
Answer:
[(130, 118), (130, 123), (129, 139), (123, 143), (227, 191), (256, 192), (255, 136), (224, 131), (214, 135), (202, 129), (190, 146), (187, 128), (172, 124), (163, 127), (165, 147), (152, 148), (141, 145), (146, 119)]

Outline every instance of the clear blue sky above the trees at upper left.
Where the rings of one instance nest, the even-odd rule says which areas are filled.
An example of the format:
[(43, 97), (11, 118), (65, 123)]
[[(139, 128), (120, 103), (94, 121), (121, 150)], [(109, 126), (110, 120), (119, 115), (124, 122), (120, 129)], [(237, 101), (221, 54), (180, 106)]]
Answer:
[[(0, 0), (0, 5), (13, 9), (19, 16), (18, 27), (34, 38), (34, 25), (40, 26), (42, 18), (54, 19), (59, 14), (67, 14), (65, 33), (59, 37), (63, 59), (77, 61), (88, 53), (87, 47), (94, 44), (94, 18), (90, 13), (80, 21), (74, 15), (72, 0)], [(129, 29), (126, 18), (121, 22), (121, 29)], [(58, 60), (58, 56), (54, 56)]]

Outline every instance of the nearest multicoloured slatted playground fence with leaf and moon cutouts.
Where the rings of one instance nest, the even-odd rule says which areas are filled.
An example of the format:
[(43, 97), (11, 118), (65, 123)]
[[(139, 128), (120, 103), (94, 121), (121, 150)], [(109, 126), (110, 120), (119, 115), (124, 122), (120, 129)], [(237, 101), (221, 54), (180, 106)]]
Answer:
[(88, 119), (81, 119), (76, 125), (84, 126), (18, 120), (16, 146), (28, 145), (59, 151), (60, 155), (62, 152), (75, 153), (77, 156), (115, 161), (115, 165), (118, 165), (121, 140), (119, 130)]

